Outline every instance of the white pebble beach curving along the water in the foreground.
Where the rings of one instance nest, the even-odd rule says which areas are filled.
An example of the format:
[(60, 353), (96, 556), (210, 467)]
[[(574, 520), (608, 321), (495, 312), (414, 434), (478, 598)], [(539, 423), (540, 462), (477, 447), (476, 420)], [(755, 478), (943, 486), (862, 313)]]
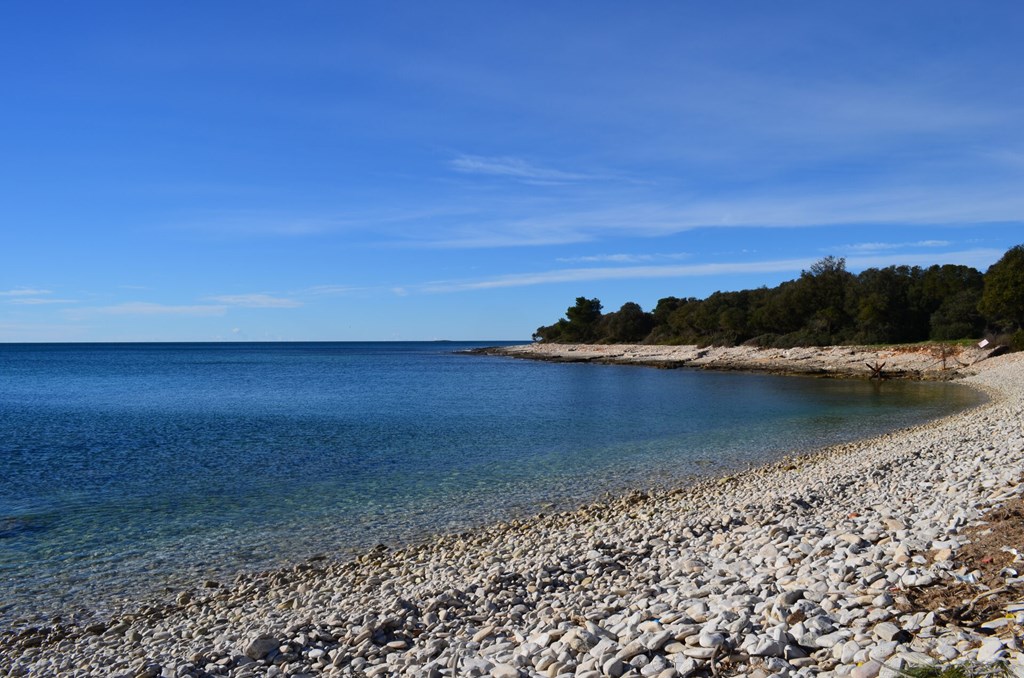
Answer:
[(1024, 675), (1024, 565), (1001, 548), (1024, 545), (993, 527), (1024, 497), (1024, 354), (958, 369), (988, 404), (671, 492), (0, 632), (0, 675), (873, 678), (975, 661)]

